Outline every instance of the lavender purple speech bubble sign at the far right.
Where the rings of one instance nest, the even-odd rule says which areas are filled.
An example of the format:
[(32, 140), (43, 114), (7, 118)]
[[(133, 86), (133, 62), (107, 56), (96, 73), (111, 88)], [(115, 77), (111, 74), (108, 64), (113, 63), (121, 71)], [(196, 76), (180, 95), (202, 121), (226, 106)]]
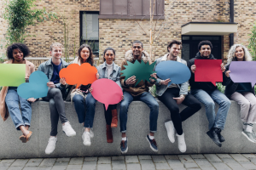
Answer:
[(256, 83), (255, 61), (232, 61), (230, 63), (230, 78), (233, 82), (251, 82), (252, 88)]

